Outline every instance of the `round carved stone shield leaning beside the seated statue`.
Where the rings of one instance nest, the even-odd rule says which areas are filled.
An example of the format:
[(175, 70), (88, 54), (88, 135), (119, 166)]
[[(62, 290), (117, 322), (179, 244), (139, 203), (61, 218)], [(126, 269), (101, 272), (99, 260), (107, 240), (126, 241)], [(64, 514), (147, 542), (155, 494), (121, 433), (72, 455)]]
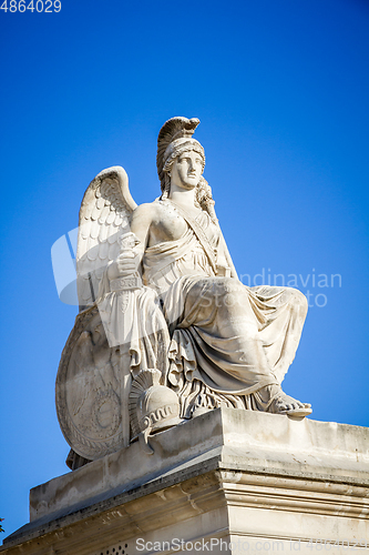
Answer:
[(62, 352), (57, 413), (69, 445), (96, 460), (123, 446), (120, 347), (110, 347), (98, 307), (80, 313)]

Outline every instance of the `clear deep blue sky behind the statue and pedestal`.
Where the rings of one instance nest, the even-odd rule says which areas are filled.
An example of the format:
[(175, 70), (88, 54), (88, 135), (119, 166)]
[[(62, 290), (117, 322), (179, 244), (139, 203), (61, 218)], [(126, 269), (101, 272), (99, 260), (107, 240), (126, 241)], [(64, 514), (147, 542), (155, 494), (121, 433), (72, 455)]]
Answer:
[(0, 10), (7, 534), (28, 522), (30, 487), (68, 471), (54, 381), (76, 309), (58, 297), (51, 246), (104, 168), (125, 168), (137, 203), (158, 195), (156, 138), (174, 115), (201, 120), (239, 274), (309, 294), (284, 389), (316, 420), (369, 425), (368, 27), (365, 0)]

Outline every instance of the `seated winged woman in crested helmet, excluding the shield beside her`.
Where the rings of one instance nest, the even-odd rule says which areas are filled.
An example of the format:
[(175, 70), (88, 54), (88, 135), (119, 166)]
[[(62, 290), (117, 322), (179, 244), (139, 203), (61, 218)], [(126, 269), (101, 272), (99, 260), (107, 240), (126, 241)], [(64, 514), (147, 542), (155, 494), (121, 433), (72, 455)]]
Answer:
[(122, 375), (158, 369), (184, 418), (217, 406), (304, 417), (310, 405), (280, 383), (307, 300), (238, 280), (203, 176), (204, 149), (193, 138), (198, 123), (177, 117), (161, 129), (154, 202), (134, 203), (122, 168), (90, 184), (76, 260), (81, 314), (99, 307), (110, 347), (125, 356)]

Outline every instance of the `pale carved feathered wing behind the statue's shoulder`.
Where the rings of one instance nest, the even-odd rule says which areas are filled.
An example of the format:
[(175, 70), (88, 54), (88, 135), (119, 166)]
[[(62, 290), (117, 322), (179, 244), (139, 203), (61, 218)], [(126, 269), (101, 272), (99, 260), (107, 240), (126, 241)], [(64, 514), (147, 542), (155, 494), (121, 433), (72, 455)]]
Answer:
[(127, 174), (120, 165), (100, 172), (85, 191), (75, 259), (81, 310), (96, 300), (102, 275), (109, 262), (119, 255), (119, 239), (130, 231), (131, 215), (136, 206)]

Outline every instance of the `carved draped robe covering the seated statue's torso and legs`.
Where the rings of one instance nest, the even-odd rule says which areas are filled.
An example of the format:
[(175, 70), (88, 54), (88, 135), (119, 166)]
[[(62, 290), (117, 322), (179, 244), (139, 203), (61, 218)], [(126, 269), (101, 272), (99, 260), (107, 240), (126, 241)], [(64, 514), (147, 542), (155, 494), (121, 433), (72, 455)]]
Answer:
[[(196, 222), (219, 254), (219, 228), (205, 211)], [(167, 379), (183, 415), (196, 404), (259, 408), (257, 392), (279, 384), (295, 357), (307, 313), (303, 293), (215, 275), (188, 224), (180, 239), (145, 250), (143, 282), (162, 300), (172, 337)]]

